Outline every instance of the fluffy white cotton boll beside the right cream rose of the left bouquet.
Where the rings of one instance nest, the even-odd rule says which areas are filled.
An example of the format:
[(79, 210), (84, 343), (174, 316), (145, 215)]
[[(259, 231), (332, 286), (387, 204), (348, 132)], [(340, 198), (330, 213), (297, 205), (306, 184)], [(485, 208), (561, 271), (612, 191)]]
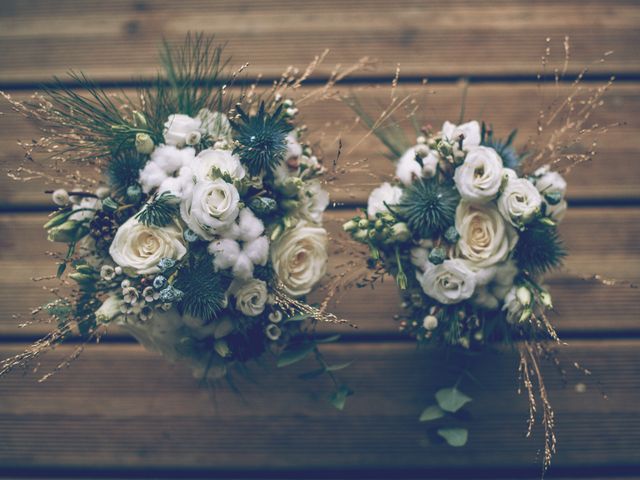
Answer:
[(240, 210), (238, 222), (223, 233), (224, 238), (209, 244), (214, 267), (231, 268), (239, 279), (251, 278), (254, 265), (266, 265), (269, 259), (269, 240), (263, 232), (264, 224), (250, 209)]

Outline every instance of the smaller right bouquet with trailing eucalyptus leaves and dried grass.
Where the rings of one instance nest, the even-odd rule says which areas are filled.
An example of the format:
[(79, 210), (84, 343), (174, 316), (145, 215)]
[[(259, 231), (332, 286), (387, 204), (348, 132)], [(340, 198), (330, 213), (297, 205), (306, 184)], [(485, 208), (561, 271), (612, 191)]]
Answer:
[[(395, 163), (393, 180), (373, 189), (363, 214), (343, 225), (367, 246), (369, 273), (357, 286), (394, 277), (402, 296), (403, 313), (396, 316), (400, 330), (421, 346), (457, 352), (448, 358), (462, 370), (460, 379), (466, 367), (453, 365), (454, 359), (468, 363), (468, 353), (486, 346), (517, 348), (529, 402), (527, 435), (537, 412), (542, 416), (544, 468), (556, 438), (540, 363), (547, 358), (559, 362), (549, 346), (559, 338), (548, 316), (553, 306), (544, 275), (560, 267), (567, 254), (558, 232), (567, 210), (561, 172), (592, 158), (593, 151), (576, 153), (567, 146), (609, 127), (588, 125), (587, 120), (610, 85), (583, 89), (574, 82), (567, 98), (556, 98), (541, 110), (539, 135), (544, 127), (551, 137), (538, 148), (532, 141), (534, 148), (527, 153), (514, 147), (516, 130), (500, 139), (484, 122), (462, 123), (462, 114), (457, 125), (446, 121), (439, 130), (422, 126), (418, 101), (412, 94), (401, 98), (396, 93), (398, 76), (389, 106), (377, 117), (356, 97), (345, 98), (369, 127), (367, 136), (376, 135)], [(415, 141), (407, 139), (405, 120)], [(420, 421), (433, 425), (430, 432), (441, 440), (461, 447), (468, 440), (464, 407), (471, 400), (459, 380), (437, 391)]]

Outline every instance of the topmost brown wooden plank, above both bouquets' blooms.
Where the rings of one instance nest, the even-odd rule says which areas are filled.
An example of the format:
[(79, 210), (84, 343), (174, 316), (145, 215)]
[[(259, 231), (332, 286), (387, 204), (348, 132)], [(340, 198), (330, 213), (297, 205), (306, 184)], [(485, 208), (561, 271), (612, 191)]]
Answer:
[[(326, 48), (333, 53), (318, 75), (365, 55), (387, 76), (398, 63), (416, 76), (532, 75), (545, 38), (562, 67), (565, 35), (571, 73), (591, 63), (596, 72), (637, 73), (638, 27), (640, 10), (625, 0), (225, 0), (213, 8), (204, 0), (11, 0), (0, 12), (0, 80), (39, 82), (70, 68), (99, 80), (148, 78), (162, 37), (180, 41), (189, 30), (216, 34), (238, 65), (268, 76), (289, 64), (304, 68)], [(610, 50), (609, 61), (597, 63)]]

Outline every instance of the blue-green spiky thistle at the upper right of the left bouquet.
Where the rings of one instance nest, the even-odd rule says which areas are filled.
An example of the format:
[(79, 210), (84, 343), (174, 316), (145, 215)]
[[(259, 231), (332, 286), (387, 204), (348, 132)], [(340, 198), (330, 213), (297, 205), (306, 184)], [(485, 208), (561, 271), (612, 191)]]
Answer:
[(272, 174), (287, 152), (287, 134), (293, 129), (280, 104), (273, 113), (260, 103), (255, 115), (236, 107), (238, 117), (231, 126), (238, 142), (234, 153), (240, 156), (249, 174)]

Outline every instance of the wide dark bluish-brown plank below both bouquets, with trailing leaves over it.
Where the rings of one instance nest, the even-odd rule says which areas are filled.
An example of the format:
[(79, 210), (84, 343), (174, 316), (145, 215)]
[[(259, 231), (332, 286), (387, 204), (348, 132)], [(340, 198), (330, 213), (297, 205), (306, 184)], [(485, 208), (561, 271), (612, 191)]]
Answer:
[[(578, 361), (593, 371), (593, 380), (570, 374), (566, 388), (554, 368), (545, 368), (557, 419), (555, 466), (640, 464), (640, 391), (629, 381), (640, 374), (639, 347), (628, 340), (563, 348), (567, 368)], [(15, 351), (0, 350), (3, 356)], [(47, 356), (39, 373), (70, 351)], [(331, 361), (354, 360), (341, 377), (357, 394), (342, 413), (324, 403), (323, 382), (295, 379), (312, 368), (310, 361), (281, 370), (252, 368), (253, 380), (236, 378), (239, 397), (226, 386), (198, 388), (182, 367), (168, 367), (138, 346), (90, 347), (45, 383), (32, 374), (0, 382), (0, 465), (535, 471), (542, 440), (537, 430), (533, 439), (524, 438), (526, 401), (516, 394), (514, 355), (474, 357), (471, 373), (480, 387), (461, 385), (473, 397), (471, 437), (464, 449), (452, 449), (430, 444), (426, 427), (416, 421), (435, 390), (458, 375), (447, 373), (443, 352), (417, 351), (404, 342), (332, 345), (326, 354)]]

